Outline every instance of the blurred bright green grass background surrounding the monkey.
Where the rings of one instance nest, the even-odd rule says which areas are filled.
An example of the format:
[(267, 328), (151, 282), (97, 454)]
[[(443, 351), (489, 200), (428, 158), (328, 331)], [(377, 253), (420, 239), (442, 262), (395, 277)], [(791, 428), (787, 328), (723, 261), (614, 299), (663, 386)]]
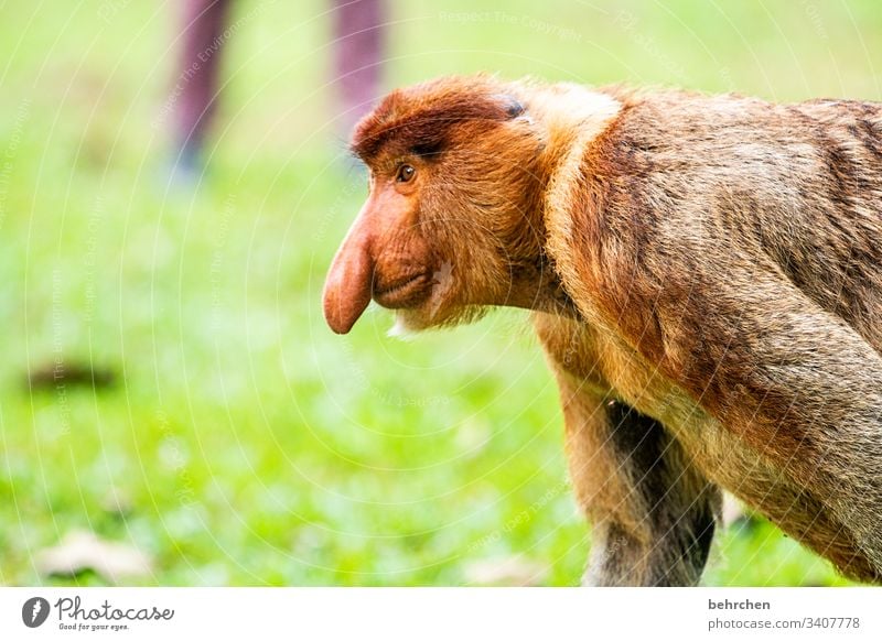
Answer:
[[(143, 585), (579, 582), (590, 530), (526, 315), (407, 343), (379, 309), (324, 325), (366, 192), (326, 12), (239, 2), (207, 171), (182, 189), (173, 4), (2, 4), (0, 583), (101, 584), (39, 572), (72, 531), (148, 555)], [(388, 88), (488, 70), (882, 96), (875, 0), (390, 0), (389, 19)], [(57, 363), (116, 384), (29, 385)], [(761, 520), (718, 537), (704, 582), (845, 583)]]

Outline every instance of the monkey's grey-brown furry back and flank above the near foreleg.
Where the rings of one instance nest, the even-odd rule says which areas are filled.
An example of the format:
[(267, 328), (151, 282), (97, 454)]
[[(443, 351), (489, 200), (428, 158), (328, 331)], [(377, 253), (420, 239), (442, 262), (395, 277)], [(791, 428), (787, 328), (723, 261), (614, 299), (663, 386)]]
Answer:
[(627, 235), (636, 206), (635, 251), (756, 252), (882, 354), (882, 104), (634, 95), (606, 142), (604, 219)]

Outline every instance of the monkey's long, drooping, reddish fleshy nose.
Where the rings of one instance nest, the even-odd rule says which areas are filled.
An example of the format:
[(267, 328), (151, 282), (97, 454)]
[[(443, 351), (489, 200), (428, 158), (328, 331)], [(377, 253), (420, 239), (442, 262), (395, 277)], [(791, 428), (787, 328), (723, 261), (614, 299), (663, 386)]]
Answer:
[(347, 334), (370, 303), (373, 275), (368, 239), (354, 228), (337, 250), (324, 283), (324, 318), (336, 334)]

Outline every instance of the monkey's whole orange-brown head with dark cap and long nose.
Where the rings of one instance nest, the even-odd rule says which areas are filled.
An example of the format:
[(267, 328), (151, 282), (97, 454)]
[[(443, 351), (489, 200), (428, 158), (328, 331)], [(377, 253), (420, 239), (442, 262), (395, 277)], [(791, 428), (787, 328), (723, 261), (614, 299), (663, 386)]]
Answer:
[(544, 143), (521, 91), (486, 76), (443, 78), (394, 91), (356, 126), (369, 194), (327, 275), (334, 332), (347, 333), (372, 297), (404, 329), (530, 306), (542, 272)]

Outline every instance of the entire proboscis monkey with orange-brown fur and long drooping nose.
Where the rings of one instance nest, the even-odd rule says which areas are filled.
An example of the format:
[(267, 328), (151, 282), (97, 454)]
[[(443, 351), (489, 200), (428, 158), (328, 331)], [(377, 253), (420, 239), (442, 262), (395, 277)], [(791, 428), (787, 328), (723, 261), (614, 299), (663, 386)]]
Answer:
[(880, 105), (452, 77), (353, 150), (331, 328), (372, 297), (408, 330), (531, 309), (587, 583), (696, 584), (720, 488), (882, 580)]

